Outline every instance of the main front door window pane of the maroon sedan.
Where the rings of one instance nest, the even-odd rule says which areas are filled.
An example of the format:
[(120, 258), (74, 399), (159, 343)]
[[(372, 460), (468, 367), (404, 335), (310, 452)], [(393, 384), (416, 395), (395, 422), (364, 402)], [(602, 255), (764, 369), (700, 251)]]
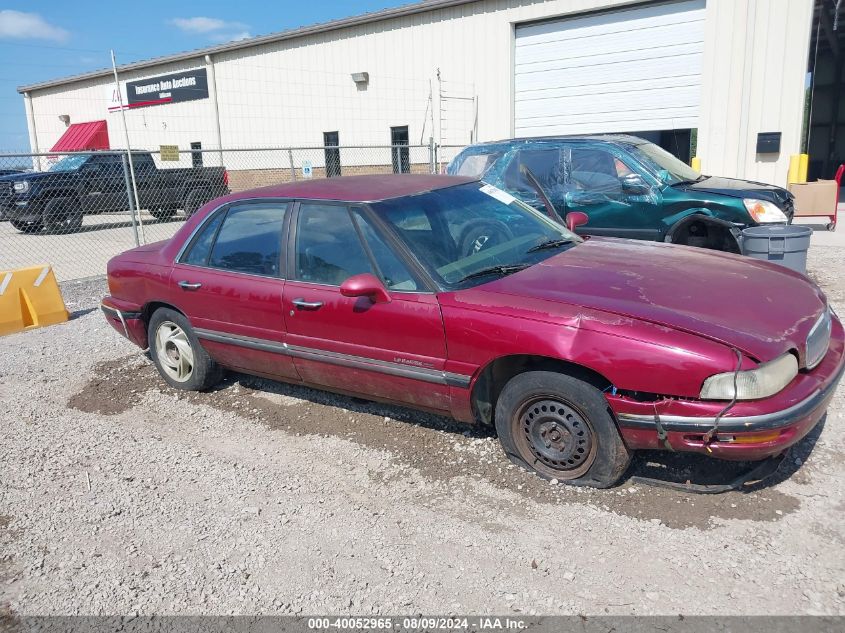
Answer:
[(303, 203), (295, 241), (300, 281), (339, 286), (352, 275), (375, 272), (344, 206)]

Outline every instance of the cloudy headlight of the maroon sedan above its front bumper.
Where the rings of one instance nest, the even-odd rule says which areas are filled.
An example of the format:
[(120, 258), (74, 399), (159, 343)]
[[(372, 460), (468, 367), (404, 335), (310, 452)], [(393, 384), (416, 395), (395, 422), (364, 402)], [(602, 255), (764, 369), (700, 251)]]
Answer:
[[(786, 387), (798, 375), (798, 359), (787, 352), (773, 361), (736, 374), (736, 399), (768, 398)], [(702, 400), (732, 400), (734, 372), (716, 374), (704, 381)]]

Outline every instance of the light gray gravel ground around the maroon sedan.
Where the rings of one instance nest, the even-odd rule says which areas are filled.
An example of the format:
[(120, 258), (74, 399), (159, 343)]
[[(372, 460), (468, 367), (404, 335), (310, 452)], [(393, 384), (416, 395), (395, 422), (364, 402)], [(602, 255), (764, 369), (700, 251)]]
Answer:
[[(841, 248), (810, 259), (845, 314)], [(751, 492), (586, 490), (406, 409), (241, 375), (177, 393), (101, 279), (63, 291), (69, 323), (0, 339), (0, 610), (845, 614), (841, 389)]]

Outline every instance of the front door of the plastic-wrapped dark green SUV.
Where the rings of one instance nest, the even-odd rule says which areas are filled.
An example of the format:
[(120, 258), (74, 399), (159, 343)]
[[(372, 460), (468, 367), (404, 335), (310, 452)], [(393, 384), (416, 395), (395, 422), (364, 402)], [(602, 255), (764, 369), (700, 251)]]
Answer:
[(660, 239), (662, 194), (636, 171), (635, 163), (595, 145), (564, 147), (565, 212), (582, 211), (590, 218), (578, 233)]

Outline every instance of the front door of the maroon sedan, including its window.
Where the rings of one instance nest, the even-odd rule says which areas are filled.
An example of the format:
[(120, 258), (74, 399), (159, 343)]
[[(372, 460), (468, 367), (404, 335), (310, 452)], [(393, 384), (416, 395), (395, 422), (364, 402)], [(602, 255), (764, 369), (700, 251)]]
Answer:
[[(440, 306), (361, 208), (301, 202), (291, 221), (284, 290), (288, 345), (302, 379), (346, 393), (449, 410)], [(377, 275), (390, 302), (344, 297)]]

